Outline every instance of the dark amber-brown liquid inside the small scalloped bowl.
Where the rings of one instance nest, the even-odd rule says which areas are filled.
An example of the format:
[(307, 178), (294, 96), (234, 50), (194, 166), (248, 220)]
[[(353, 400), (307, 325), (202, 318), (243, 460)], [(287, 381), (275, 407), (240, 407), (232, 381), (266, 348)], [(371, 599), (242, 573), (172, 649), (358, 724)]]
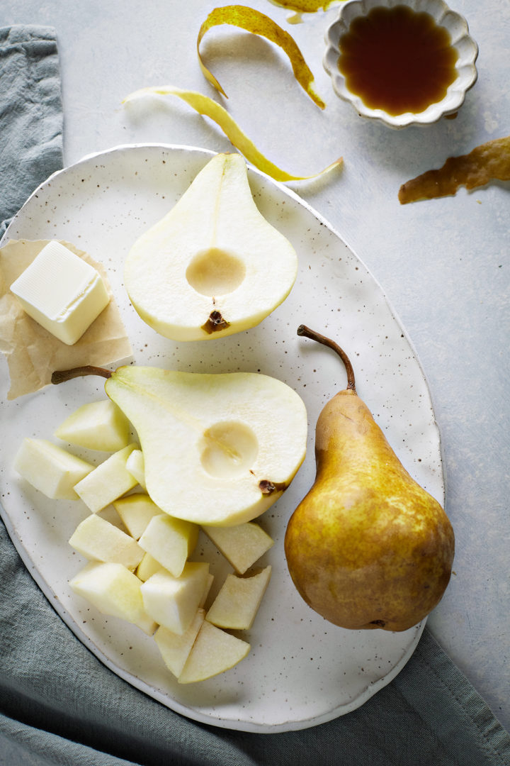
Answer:
[(443, 100), (456, 80), (450, 33), (405, 5), (372, 8), (339, 40), (338, 67), (346, 86), (370, 109), (420, 113)]

